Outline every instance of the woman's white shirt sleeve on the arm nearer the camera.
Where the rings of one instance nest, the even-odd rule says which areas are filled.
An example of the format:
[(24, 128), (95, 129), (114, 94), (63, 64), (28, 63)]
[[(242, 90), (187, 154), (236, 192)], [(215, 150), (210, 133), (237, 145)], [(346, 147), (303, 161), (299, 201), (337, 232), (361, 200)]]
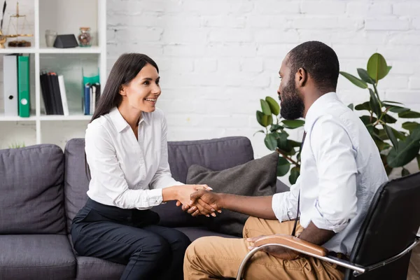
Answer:
[[(120, 167), (111, 137), (102, 126), (86, 130), (85, 153), (92, 174), (92, 191), (101, 190), (116, 207), (149, 209), (162, 203), (162, 190), (131, 190)], [(97, 188), (99, 187), (100, 188)]]

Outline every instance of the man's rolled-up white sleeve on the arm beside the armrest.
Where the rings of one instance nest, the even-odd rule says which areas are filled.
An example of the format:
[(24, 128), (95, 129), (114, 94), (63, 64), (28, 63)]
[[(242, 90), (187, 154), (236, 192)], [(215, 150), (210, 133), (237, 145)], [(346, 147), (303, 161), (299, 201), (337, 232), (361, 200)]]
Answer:
[(331, 117), (314, 124), (311, 148), (319, 179), (311, 221), (318, 228), (341, 232), (356, 216), (356, 150), (344, 127)]

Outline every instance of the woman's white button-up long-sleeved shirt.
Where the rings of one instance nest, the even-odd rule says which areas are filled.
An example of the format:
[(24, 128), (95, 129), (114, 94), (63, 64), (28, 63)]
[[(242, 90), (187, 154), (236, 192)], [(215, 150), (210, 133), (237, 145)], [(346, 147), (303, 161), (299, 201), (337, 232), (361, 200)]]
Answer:
[(183, 185), (168, 163), (167, 121), (156, 108), (142, 113), (138, 140), (117, 108), (87, 125), (85, 152), (92, 179), (87, 195), (123, 209), (162, 203), (162, 188)]

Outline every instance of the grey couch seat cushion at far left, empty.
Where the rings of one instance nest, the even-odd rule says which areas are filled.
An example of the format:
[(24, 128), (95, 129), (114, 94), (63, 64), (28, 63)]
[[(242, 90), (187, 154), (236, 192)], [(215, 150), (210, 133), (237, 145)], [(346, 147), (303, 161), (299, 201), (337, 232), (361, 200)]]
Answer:
[(0, 279), (74, 279), (66, 235), (0, 235)]

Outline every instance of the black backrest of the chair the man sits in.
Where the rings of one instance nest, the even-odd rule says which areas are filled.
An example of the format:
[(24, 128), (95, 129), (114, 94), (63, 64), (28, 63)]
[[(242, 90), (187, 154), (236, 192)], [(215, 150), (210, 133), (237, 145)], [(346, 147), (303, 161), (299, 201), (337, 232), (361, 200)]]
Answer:
[[(374, 195), (350, 261), (369, 266), (398, 255), (415, 240), (420, 227), (420, 172), (384, 183)], [(409, 257), (346, 280), (407, 279)]]

